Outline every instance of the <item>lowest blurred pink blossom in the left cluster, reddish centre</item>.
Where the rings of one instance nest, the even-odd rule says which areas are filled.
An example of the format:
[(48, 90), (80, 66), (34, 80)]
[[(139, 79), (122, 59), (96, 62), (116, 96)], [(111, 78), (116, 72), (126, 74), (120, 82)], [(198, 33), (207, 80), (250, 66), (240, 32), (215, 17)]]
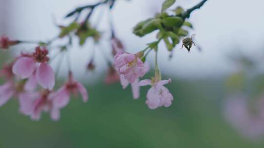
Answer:
[[(35, 99), (32, 102), (31, 109), (32, 112), (29, 113), (32, 120), (39, 120), (43, 111), (49, 112), (52, 120), (56, 121), (60, 118), (60, 108), (54, 106), (53, 98), (51, 97), (51, 92), (48, 90), (43, 90), (39, 92)], [(30, 102), (29, 102), (30, 104)], [(28, 105), (30, 110), (30, 105)]]

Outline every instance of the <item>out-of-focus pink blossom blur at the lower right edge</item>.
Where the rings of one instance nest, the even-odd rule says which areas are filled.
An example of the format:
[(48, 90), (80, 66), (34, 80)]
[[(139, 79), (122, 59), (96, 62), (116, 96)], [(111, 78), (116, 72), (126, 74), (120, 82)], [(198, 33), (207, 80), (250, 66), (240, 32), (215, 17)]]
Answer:
[(258, 140), (264, 136), (264, 118), (261, 111), (260, 115), (251, 113), (243, 94), (227, 99), (224, 104), (224, 117), (234, 129), (250, 140)]

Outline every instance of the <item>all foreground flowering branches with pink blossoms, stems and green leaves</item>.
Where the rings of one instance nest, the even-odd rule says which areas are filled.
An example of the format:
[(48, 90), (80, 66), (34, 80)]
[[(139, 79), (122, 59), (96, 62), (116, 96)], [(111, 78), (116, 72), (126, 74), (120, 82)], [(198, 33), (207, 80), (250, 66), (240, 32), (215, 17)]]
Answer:
[[(109, 70), (105, 82), (112, 84), (120, 81), (123, 89), (129, 84), (132, 86), (133, 98), (137, 99), (140, 95), (140, 86), (150, 85), (151, 88), (147, 92), (146, 104), (150, 109), (158, 107), (169, 107), (173, 101), (173, 95), (164, 87), (165, 84), (171, 83), (171, 79), (162, 80), (161, 73), (157, 63), (158, 45), (161, 40), (166, 44), (168, 51), (172, 52), (179, 43), (181, 37), (186, 37), (188, 31), (183, 27), (192, 28), (192, 24), (185, 21), (190, 14), (200, 8), (207, 0), (202, 0), (196, 6), (184, 11), (181, 7), (174, 10), (174, 15), (169, 15), (166, 10), (171, 7), (176, 0), (165, 0), (162, 4), (161, 13), (156, 14), (154, 18), (139, 22), (133, 29), (136, 36), (143, 37), (151, 32), (158, 30), (157, 41), (149, 43), (147, 48), (130, 54), (125, 52), (122, 42), (115, 36), (113, 23), (110, 22), (111, 28), (111, 50), (112, 62), (109, 58), (106, 61)], [(20, 104), (20, 112), (30, 116), (34, 120), (39, 120), (43, 111), (49, 112), (53, 120), (60, 117), (60, 109), (66, 107), (70, 100), (71, 93), (82, 95), (83, 101), (88, 101), (88, 92), (85, 87), (74, 80), (70, 68), (69, 47), (72, 45), (72, 38), (79, 39), (79, 45), (83, 46), (88, 38), (92, 39), (95, 45), (100, 43), (101, 32), (96, 29), (97, 25), (93, 25), (89, 18), (92, 16), (94, 9), (100, 5), (107, 4), (109, 9), (113, 8), (116, 0), (102, 0), (98, 3), (82, 6), (70, 12), (66, 18), (74, 18), (74, 21), (67, 26), (58, 25), (61, 32), (55, 38), (48, 42), (28, 42), (22, 40), (10, 40), (6, 36), (0, 37), (0, 49), (8, 49), (10, 46), (21, 43), (38, 44), (34, 52), (21, 53), (11, 63), (3, 66), (0, 76), (6, 79), (6, 83), (0, 86), (0, 106), (5, 104), (11, 97), (17, 97)], [(85, 20), (81, 19), (81, 13), (88, 9)], [(81, 20), (80, 20), (81, 19)], [(111, 19), (110, 19), (111, 21)], [(49, 52), (54, 40), (67, 38), (68, 43), (59, 46), (58, 54), (67, 52), (68, 80), (57, 91), (54, 90), (56, 74), (49, 65)], [(190, 52), (190, 48), (194, 44), (194, 35), (183, 39), (183, 46)], [(94, 50), (94, 49), (93, 49)], [(140, 80), (148, 71), (149, 65), (145, 62), (148, 54), (155, 52), (155, 74), (151, 79)], [(94, 52), (93, 52), (94, 53)], [(57, 55), (58, 55), (57, 54)], [(62, 54), (63, 57), (65, 54)], [(54, 56), (56, 57), (56, 56)], [(89, 60), (87, 69), (94, 70), (94, 56)], [(59, 62), (61, 65), (62, 61)], [(60, 67), (60, 66), (59, 66)], [(58, 68), (59, 69), (59, 68)], [(56, 69), (58, 71), (58, 69)]]

